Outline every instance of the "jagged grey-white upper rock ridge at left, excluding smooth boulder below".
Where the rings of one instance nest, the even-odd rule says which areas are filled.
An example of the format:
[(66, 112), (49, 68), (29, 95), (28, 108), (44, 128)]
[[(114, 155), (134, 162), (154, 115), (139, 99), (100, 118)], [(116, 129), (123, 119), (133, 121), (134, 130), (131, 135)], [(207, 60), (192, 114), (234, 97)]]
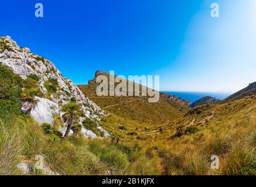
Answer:
[[(86, 98), (80, 89), (74, 85), (74, 83), (65, 78), (59, 70), (54, 66), (52, 62), (46, 58), (39, 57), (36, 54), (30, 52), (28, 48), (19, 47), (11, 37), (1, 37), (2, 42), (4, 42), (8, 49), (4, 51), (0, 50), (0, 63), (8, 66), (15, 72), (19, 74), (23, 79), (30, 74), (37, 75), (40, 85), (40, 91), (47, 93), (45, 88), (45, 82), (49, 79), (56, 79), (58, 82), (57, 92), (52, 95), (52, 99), (55, 103), (62, 102), (63, 104), (70, 101), (70, 99), (75, 98), (78, 103), (83, 104), (83, 110), (85, 113), (92, 113), (89, 115), (90, 118), (96, 118), (99, 115), (104, 115), (104, 111), (96, 105), (90, 99)], [(95, 112), (95, 113), (94, 113)]]

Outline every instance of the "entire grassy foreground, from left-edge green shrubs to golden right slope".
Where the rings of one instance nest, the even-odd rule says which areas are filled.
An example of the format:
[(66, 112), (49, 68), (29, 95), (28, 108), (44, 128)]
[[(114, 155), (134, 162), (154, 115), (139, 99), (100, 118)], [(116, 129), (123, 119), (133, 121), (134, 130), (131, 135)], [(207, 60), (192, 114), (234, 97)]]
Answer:
[[(256, 174), (255, 96), (199, 106), (162, 124), (110, 113), (99, 123), (111, 138), (91, 140), (76, 133), (61, 144), (60, 117), (54, 116), (53, 127), (40, 126), (19, 111), (22, 80), (1, 67), (0, 81), (0, 175), (21, 175), (17, 165), (33, 165), (39, 154), (60, 175)], [(211, 169), (211, 155), (219, 156), (219, 169)]]

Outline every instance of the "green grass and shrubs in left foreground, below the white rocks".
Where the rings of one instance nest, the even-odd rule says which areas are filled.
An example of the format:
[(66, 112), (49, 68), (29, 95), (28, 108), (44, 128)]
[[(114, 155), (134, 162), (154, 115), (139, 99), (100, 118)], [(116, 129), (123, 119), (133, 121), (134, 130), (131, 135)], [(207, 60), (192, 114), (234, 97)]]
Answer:
[[(9, 102), (9, 108), (13, 108), (1, 107), (0, 110), (0, 175), (22, 174), (16, 166), (21, 161), (33, 165), (39, 154), (44, 155), (50, 168), (61, 175), (158, 174), (155, 162), (148, 160), (143, 151), (138, 151), (135, 156), (127, 154), (119, 144), (86, 140), (76, 135), (61, 144), (60, 134), (55, 130), (62, 126), (60, 117), (53, 116), (54, 126), (43, 123), (40, 127), (29, 115), (21, 113), (22, 79), (9, 68), (0, 68), (1, 102), (5, 101), (4, 106)], [(9, 114), (8, 118), (6, 114)], [(129, 161), (130, 157), (138, 157), (140, 161)], [(29, 174), (36, 175), (35, 172)]]

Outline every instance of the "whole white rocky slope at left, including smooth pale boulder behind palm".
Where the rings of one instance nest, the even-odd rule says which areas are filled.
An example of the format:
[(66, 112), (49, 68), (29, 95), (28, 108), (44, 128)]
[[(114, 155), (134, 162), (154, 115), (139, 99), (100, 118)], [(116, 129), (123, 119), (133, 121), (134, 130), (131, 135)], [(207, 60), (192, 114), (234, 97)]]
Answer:
[[(54, 123), (54, 115), (60, 115), (63, 105), (77, 102), (84, 115), (99, 120), (105, 112), (90, 99), (70, 79), (65, 78), (52, 62), (31, 53), (28, 48), (19, 47), (11, 37), (0, 37), (0, 64), (11, 68), (25, 81), (24, 90), (36, 92), (38, 103), (30, 115), (39, 123)], [(26, 106), (21, 108), (26, 112)], [(81, 118), (82, 122), (84, 118)], [(63, 127), (64, 128), (64, 127)], [(60, 131), (65, 131), (60, 129)], [(85, 136), (93, 136), (92, 131), (83, 129)]]

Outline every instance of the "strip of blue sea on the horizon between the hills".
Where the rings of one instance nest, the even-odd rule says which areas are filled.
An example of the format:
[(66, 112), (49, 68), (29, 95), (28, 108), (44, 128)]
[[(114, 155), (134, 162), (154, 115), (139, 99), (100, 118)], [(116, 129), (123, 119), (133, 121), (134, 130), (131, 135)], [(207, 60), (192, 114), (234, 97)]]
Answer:
[(191, 103), (203, 98), (204, 96), (211, 96), (217, 99), (225, 99), (233, 93), (221, 93), (221, 92), (179, 92), (179, 91), (162, 91), (163, 93), (169, 93), (178, 98), (185, 99)]

